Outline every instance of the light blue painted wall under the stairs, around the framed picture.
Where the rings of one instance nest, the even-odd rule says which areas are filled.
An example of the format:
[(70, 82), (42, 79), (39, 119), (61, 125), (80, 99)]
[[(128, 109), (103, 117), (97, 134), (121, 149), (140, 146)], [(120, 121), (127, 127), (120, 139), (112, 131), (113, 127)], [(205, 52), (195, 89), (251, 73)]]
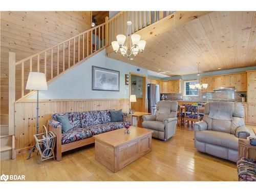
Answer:
[[(120, 91), (93, 91), (92, 66), (120, 71)], [(40, 91), (40, 99), (94, 99), (94, 98), (129, 98), (129, 86), (125, 86), (124, 75), (129, 72), (147, 75), (147, 70), (105, 57), (105, 50), (84, 61), (49, 84), (47, 91)], [(36, 95), (30, 98), (35, 99)]]

